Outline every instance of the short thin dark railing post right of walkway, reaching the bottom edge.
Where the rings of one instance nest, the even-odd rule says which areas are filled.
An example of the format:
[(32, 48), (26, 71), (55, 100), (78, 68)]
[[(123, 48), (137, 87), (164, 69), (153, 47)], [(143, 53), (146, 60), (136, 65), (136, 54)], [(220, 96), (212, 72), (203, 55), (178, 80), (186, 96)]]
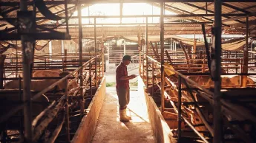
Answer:
[(178, 80), (179, 84), (179, 93), (178, 93), (178, 142), (180, 142), (181, 139), (181, 77), (179, 76)]

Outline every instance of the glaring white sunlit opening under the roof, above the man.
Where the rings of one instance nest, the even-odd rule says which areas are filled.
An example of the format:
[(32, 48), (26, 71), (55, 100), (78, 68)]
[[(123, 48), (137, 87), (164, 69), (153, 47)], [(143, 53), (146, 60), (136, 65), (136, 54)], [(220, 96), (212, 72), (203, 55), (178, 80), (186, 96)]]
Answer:
[[(175, 15), (165, 10), (166, 15)], [(77, 11), (73, 14), (77, 15)], [(93, 4), (82, 9), (82, 16), (93, 15), (120, 15), (120, 4)], [(123, 4), (122, 15), (160, 15), (160, 7), (145, 3)], [(73, 21), (77, 23), (77, 20)], [(159, 23), (159, 17), (148, 17), (148, 23)], [(71, 22), (72, 23), (72, 22)], [(93, 18), (82, 18), (82, 24), (93, 24)], [(145, 23), (145, 18), (96, 18), (97, 24), (134, 24)]]

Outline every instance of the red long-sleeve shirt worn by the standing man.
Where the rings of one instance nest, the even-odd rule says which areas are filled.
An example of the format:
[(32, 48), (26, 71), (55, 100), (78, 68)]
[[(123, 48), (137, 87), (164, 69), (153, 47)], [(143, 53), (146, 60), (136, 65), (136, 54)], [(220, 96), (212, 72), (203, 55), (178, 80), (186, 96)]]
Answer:
[(122, 62), (116, 68), (116, 88), (130, 88), (129, 80), (120, 80), (122, 76), (128, 76), (127, 66)]

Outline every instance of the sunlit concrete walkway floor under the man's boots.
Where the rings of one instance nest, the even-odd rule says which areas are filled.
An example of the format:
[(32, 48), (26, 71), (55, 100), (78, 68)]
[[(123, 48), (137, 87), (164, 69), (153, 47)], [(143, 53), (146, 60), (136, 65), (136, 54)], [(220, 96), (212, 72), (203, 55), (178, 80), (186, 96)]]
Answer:
[(137, 88), (131, 88), (128, 105), (130, 122), (119, 122), (119, 105), (114, 87), (107, 88), (105, 101), (99, 114), (92, 143), (137, 143), (156, 142), (148, 120), (145, 99)]

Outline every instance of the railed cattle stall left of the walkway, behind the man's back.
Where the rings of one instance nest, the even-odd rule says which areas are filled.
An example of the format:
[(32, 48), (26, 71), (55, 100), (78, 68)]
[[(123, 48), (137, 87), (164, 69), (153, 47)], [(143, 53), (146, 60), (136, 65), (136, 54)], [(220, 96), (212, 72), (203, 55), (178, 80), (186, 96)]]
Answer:
[[(30, 75), (33, 142), (72, 141), (80, 123), (93, 110), (88, 107), (92, 106), (96, 93), (102, 99), (105, 86), (102, 53), (96, 54), (83, 53), (82, 66), (76, 53), (34, 56)], [(24, 141), (21, 57), (19, 53), (7, 56), (1, 64), (1, 142)]]

